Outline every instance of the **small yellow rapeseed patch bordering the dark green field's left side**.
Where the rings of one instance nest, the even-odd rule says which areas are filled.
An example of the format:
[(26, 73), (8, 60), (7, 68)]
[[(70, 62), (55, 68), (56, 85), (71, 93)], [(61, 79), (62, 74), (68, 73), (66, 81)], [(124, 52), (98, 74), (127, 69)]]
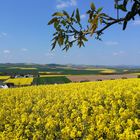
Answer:
[(8, 79), (4, 83), (14, 83), (16, 86), (31, 85), (33, 78), (14, 78)]

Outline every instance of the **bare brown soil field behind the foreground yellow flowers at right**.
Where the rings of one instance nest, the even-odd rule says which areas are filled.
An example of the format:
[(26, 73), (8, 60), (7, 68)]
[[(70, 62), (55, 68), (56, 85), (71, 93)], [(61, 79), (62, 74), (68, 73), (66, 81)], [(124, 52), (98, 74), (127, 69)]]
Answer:
[(102, 80), (137, 78), (137, 74), (120, 74), (120, 75), (72, 75), (72, 76), (67, 76), (67, 78), (69, 78), (72, 82), (80, 82), (80, 81), (102, 81)]

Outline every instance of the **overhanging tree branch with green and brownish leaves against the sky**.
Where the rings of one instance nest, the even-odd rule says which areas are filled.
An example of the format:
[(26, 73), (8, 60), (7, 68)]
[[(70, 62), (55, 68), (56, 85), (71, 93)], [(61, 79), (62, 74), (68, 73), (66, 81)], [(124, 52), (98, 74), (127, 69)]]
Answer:
[[(100, 36), (103, 31), (112, 26), (113, 24), (123, 23), (123, 30), (126, 29), (127, 23), (130, 20), (134, 20), (136, 15), (140, 16), (140, 0), (114, 0), (115, 9), (117, 9), (117, 17), (111, 17), (106, 13), (103, 13), (103, 8), (96, 8), (94, 3), (91, 3), (90, 9), (87, 11), (88, 21), (87, 27), (83, 27), (80, 19), (80, 12), (78, 9), (73, 11), (70, 15), (66, 11), (56, 12), (52, 15), (52, 19), (48, 25), (53, 24), (55, 33), (52, 39), (52, 49), (58, 44), (60, 47), (64, 46), (63, 50), (68, 50), (74, 44), (77, 46), (85, 46), (85, 42), (88, 41), (88, 35), (101, 40)], [(128, 5), (131, 7), (128, 8)], [(125, 12), (124, 17), (119, 17), (119, 11)]]

